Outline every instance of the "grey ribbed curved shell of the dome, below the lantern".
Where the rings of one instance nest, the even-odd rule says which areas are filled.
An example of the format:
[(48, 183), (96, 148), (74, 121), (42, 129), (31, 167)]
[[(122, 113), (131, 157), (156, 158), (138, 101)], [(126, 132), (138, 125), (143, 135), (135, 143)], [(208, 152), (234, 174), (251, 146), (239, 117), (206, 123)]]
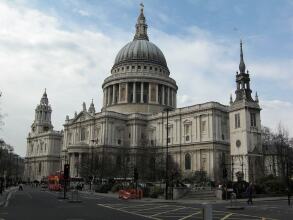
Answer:
[(162, 51), (147, 39), (134, 39), (117, 54), (114, 66), (132, 62), (147, 62), (167, 67)]

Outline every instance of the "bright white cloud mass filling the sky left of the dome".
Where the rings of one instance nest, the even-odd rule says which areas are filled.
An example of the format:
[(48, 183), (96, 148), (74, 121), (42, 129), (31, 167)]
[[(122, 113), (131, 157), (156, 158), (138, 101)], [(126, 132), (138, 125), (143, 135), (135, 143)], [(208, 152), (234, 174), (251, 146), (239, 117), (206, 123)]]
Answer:
[(26, 135), (44, 88), (53, 122), (62, 128), (66, 114), (94, 98), (101, 108), (101, 83), (109, 75), (121, 41), (88, 30), (66, 31), (59, 21), (37, 10), (0, 3), (1, 131), (6, 142), (24, 155)]

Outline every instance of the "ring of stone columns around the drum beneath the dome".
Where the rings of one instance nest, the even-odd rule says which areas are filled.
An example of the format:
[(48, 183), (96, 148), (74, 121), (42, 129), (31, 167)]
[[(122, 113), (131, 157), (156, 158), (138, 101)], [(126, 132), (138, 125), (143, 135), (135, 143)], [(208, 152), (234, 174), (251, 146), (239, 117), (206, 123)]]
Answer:
[(104, 88), (104, 106), (120, 103), (161, 104), (176, 108), (176, 90), (151, 82), (123, 82)]

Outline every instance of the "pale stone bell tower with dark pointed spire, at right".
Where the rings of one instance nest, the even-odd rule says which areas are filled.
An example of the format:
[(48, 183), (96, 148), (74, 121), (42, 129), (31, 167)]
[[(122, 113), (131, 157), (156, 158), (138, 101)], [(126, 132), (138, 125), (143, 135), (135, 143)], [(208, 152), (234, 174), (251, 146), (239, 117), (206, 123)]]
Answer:
[(261, 176), (261, 120), (257, 93), (251, 97), (250, 77), (243, 58), (240, 41), (239, 72), (236, 72), (235, 100), (231, 95), (229, 107), (231, 173), (233, 180), (242, 176), (255, 181)]

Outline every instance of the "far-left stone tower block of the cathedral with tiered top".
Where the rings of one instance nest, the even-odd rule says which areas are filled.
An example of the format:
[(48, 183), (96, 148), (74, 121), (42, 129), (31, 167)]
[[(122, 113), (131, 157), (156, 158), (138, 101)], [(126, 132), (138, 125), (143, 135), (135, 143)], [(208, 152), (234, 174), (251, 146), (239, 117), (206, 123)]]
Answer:
[(53, 130), (52, 109), (46, 91), (35, 109), (35, 120), (27, 137), (25, 180), (40, 181), (62, 170), (60, 153), (63, 133)]

